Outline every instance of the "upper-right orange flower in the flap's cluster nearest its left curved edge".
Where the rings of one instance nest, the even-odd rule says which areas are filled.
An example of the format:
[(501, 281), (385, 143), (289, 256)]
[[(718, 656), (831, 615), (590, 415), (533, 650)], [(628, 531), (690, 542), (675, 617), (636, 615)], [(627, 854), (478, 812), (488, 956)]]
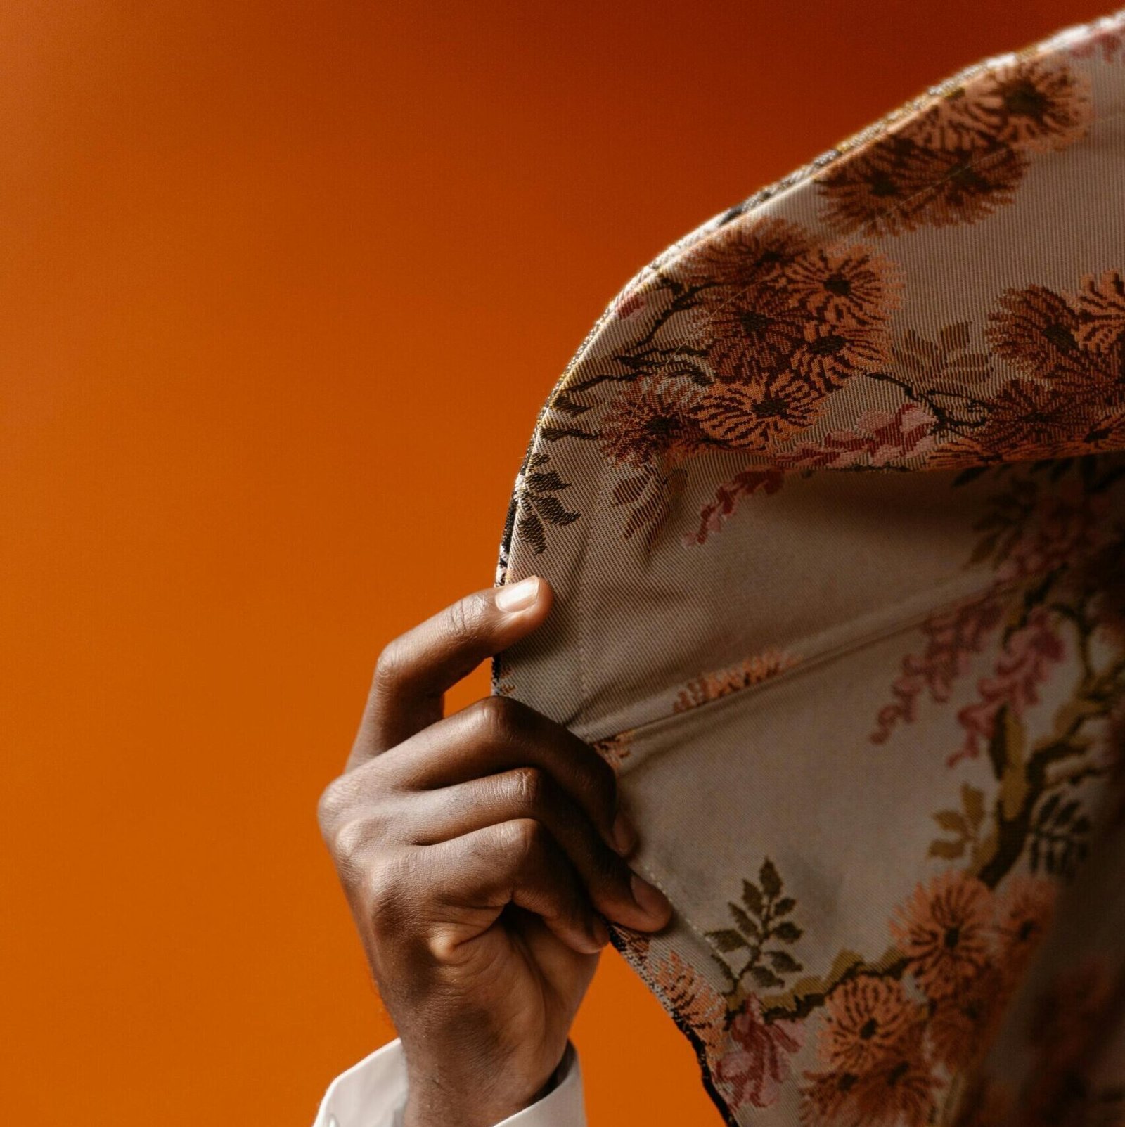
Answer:
[(833, 323), (882, 321), (898, 303), (895, 267), (862, 248), (812, 251), (788, 268), (786, 284), (805, 309)]

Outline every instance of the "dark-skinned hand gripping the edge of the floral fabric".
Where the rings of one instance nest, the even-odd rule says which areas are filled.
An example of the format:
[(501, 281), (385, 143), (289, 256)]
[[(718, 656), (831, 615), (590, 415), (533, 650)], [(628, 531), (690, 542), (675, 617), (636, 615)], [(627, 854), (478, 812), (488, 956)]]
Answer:
[(534, 1102), (608, 942), (671, 907), (624, 858), (612, 769), (525, 706), (444, 693), (550, 613), (488, 588), (390, 642), (321, 833), (407, 1065), (405, 1127), (491, 1127)]

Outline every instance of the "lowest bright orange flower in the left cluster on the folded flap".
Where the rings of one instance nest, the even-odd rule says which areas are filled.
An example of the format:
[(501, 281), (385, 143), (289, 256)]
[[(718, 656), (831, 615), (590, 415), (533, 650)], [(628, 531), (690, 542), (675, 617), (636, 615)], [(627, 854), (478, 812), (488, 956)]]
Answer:
[(823, 409), (823, 399), (789, 373), (751, 384), (715, 383), (693, 406), (692, 419), (715, 443), (764, 451), (779, 438), (810, 426)]

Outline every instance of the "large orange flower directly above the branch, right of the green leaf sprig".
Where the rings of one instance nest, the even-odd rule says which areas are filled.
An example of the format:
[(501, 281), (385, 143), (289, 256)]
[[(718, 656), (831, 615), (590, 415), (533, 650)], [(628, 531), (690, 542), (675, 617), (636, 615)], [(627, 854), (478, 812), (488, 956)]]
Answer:
[(919, 986), (944, 999), (967, 986), (991, 955), (991, 893), (963, 872), (919, 885), (891, 924)]

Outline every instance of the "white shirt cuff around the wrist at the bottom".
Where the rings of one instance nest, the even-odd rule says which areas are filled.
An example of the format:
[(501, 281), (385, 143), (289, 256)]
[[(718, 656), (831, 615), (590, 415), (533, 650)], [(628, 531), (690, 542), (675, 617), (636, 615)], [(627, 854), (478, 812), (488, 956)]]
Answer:
[[(586, 1127), (582, 1068), (574, 1045), (567, 1041), (557, 1083), (523, 1111), (495, 1127)], [(328, 1085), (312, 1127), (401, 1127), (406, 1106), (406, 1059), (402, 1044), (393, 1040), (375, 1049)]]

